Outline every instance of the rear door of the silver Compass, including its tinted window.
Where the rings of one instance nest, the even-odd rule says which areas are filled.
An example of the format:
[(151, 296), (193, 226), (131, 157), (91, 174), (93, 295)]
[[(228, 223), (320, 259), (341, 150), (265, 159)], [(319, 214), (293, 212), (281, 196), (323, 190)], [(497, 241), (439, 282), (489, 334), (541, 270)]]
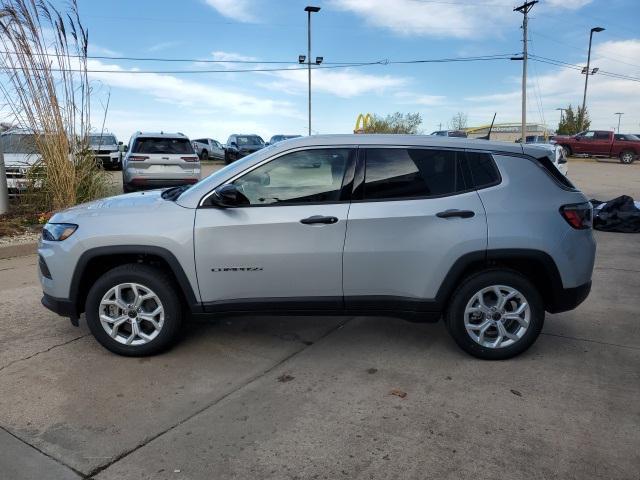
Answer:
[(360, 149), (344, 249), (347, 307), (430, 310), (447, 272), (482, 256), (485, 211), (464, 151)]

